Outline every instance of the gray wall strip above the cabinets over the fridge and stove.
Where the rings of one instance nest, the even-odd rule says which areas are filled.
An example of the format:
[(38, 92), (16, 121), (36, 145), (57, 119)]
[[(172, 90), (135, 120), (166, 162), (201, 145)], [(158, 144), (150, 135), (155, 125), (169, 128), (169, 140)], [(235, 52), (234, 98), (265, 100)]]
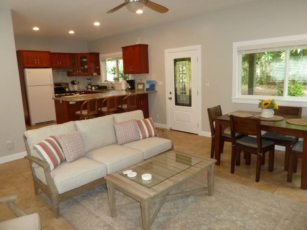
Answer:
[(62, 53), (87, 53), (87, 42), (52, 38), (15, 36), (16, 50), (42, 50)]

